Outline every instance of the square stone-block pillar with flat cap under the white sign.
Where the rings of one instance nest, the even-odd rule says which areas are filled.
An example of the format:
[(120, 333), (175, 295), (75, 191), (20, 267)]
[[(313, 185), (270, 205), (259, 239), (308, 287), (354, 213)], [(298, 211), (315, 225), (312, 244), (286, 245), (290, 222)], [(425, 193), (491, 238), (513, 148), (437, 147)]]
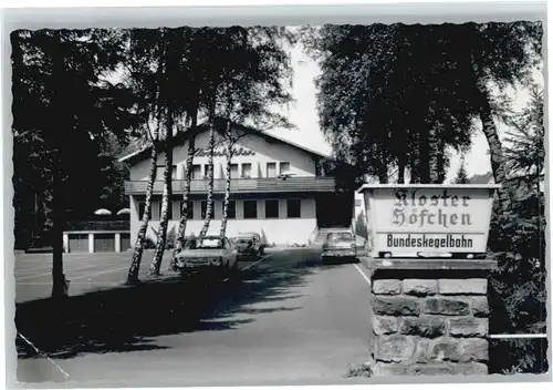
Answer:
[(487, 374), (490, 260), (369, 259), (374, 376)]

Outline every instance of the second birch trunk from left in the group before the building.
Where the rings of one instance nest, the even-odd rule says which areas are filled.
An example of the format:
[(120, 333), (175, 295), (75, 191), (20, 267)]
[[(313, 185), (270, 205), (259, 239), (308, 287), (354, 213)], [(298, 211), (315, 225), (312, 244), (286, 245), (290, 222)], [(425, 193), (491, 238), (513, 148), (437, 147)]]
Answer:
[(161, 197), (161, 215), (159, 218), (159, 228), (157, 230), (157, 243), (154, 257), (149, 265), (149, 275), (159, 275), (161, 259), (165, 253), (167, 242), (167, 227), (169, 224), (169, 207), (171, 207), (173, 195), (173, 111), (166, 110), (166, 136), (165, 136), (165, 171), (164, 171), (164, 194)]

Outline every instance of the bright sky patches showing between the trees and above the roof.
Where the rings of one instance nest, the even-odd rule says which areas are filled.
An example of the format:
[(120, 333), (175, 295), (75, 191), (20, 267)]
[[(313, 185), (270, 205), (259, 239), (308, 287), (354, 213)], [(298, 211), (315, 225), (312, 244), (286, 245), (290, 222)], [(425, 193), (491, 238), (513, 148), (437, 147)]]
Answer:
[[(321, 70), (317, 63), (303, 53), (300, 45), (291, 49), (292, 68), (294, 71), (292, 95), (295, 103), (289, 107), (281, 109), (282, 114), (286, 115), (296, 126), (295, 130), (273, 130), (272, 132), (285, 140), (304, 145), (317, 152), (332, 154), (328, 143), (325, 141), (320, 127), (316, 112), (316, 92), (315, 78)], [(534, 72), (534, 80), (543, 86), (543, 74), (540, 70)], [(513, 99), (513, 109), (522, 110), (528, 100), (529, 91), (524, 88), (513, 89), (510, 93)], [(478, 124), (478, 122), (476, 122)], [(497, 122), (500, 138), (504, 141), (504, 124)], [(479, 127), (472, 136), (472, 147), (465, 156), (466, 168), (469, 175), (480, 175), (491, 172), (490, 158), (488, 155), (488, 143)], [(452, 153), (450, 167), (447, 174), (447, 182), (450, 182), (457, 175), (460, 165), (460, 156)]]

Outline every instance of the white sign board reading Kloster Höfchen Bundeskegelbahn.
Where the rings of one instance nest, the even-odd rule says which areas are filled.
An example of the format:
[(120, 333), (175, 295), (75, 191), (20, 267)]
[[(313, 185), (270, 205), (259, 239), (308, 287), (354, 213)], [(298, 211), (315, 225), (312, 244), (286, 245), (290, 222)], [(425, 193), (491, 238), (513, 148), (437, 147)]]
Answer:
[(373, 256), (486, 253), (498, 185), (365, 185)]

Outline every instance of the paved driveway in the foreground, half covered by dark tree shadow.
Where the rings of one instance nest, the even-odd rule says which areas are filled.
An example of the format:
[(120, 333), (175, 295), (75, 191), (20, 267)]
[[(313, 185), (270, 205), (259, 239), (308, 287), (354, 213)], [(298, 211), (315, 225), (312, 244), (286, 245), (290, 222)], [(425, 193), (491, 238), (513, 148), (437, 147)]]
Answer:
[[(312, 252), (294, 249), (241, 268), (226, 283), (168, 280), (80, 295), (66, 304), (71, 316), (30, 301), (19, 321), (70, 374), (56, 386), (347, 383), (348, 366), (368, 357), (362, 267), (323, 266)], [(19, 363), (20, 381), (63, 380), (44, 359)]]

